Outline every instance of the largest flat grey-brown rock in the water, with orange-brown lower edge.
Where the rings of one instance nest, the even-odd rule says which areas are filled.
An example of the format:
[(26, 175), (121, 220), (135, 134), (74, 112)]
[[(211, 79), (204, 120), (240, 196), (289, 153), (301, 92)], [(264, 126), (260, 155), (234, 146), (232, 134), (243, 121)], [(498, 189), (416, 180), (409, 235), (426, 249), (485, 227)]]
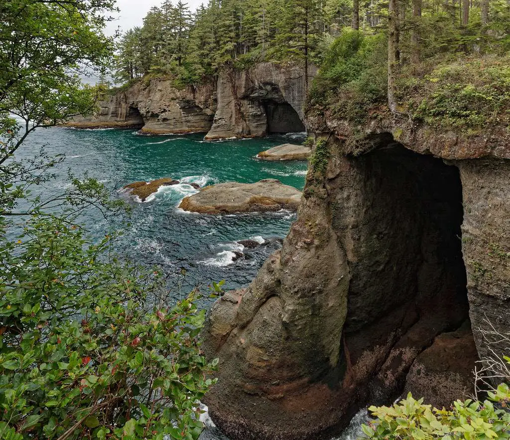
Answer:
[(185, 197), (180, 208), (201, 214), (296, 210), (301, 192), (276, 179), (256, 183), (226, 182), (202, 188)]

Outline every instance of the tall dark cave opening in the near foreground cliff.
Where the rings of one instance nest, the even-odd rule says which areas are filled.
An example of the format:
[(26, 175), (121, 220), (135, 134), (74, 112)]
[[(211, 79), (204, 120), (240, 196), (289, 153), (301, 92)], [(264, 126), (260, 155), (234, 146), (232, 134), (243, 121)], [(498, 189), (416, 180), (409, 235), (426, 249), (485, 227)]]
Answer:
[(348, 316), (363, 319), (347, 321), (346, 330), (410, 302), (444, 330), (460, 326), (468, 301), (458, 169), (394, 142), (352, 164), (363, 176), (366, 211), (362, 255), (351, 267)]

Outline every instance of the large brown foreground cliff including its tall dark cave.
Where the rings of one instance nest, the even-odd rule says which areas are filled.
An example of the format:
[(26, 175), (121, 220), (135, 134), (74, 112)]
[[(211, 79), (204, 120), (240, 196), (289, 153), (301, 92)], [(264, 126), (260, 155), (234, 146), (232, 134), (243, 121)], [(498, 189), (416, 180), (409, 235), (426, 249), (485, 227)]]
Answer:
[(404, 389), (449, 406), (478, 355), (510, 349), (489, 344), (510, 334), (510, 146), (376, 117), (350, 145), (333, 115), (308, 122), (298, 219), (205, 332), (234, 439), (319, 438)]

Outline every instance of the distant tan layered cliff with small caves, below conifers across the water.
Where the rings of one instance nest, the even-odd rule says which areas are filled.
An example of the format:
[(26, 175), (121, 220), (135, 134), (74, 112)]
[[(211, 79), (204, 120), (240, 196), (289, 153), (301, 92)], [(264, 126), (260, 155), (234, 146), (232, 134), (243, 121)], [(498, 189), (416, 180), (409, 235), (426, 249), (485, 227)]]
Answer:
[(146, 134), (208, 132), (211, 140), (304, 131), (305, 88), (301, 68), (271, 63), (226, 70), (184, 90), (165, 79), (138, 81), (108, 95), (98, 114), (67, 125), (139, 128)]

